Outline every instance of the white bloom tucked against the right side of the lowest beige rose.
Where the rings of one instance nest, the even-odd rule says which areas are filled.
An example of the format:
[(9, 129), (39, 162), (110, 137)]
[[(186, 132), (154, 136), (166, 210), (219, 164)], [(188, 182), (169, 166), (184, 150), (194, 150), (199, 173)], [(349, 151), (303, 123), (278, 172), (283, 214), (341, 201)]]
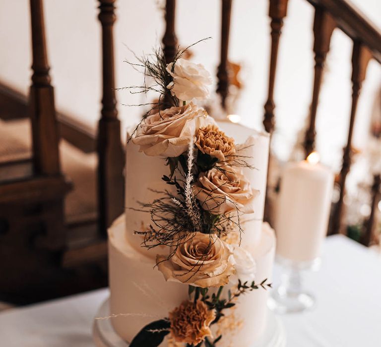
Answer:
[(230, 278), (230, 282), (236, 284), (238, 280), (241, 280), (242, 283), (254, 281), (256, 264), (253, 256), (246, 249), (238, 245), (231, 245), (230, 247), (233, 252), (234, 267), (236, 269), (236, 273)]

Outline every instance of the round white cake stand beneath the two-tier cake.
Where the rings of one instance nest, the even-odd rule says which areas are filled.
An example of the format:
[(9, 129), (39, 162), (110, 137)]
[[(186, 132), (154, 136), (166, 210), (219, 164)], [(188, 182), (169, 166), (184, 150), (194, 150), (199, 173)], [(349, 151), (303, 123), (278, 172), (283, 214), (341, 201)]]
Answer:
[[(109, 299), (100, 306), (96, 317), (110, 315)], [(115, 332), (111, 319), (94, 319), (93, 339), (97, 347), (128, 347), (128, 343), (122, 340)], [(285, 347), (286, 333), (281, 320), (270, 310), (267, 313), (266, 330), (259, 341), (250, 347)]]

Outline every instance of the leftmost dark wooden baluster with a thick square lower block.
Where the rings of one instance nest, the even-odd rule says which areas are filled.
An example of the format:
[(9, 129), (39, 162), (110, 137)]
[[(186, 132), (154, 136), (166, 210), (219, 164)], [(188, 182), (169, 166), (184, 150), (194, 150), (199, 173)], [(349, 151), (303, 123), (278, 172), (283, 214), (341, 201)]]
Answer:
[(32, 25), (32, 85), (29, 107), (32, 124), (35, 173), (60, 174), (59, 135), (54, 106), (54, 89), (49, 75), (42, 0), (30, 0)]

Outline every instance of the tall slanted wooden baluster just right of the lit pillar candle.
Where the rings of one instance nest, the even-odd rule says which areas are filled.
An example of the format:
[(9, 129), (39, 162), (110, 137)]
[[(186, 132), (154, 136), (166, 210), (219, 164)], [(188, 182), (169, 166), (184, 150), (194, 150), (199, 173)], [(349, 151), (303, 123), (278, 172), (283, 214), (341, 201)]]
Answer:
[(371, 58), (371, 52), (360, 42), (355, 41), (353, 44), (352, 53), (352, 107), (349, 121), (348, 140), (347, 145), (344, 148), (343, 163), (339, 176), (340, 196), (332, 214), (328, 234), (344, 232), (341, 228), (341, 220), (343, 216), (345, 180), (351, 166), (353, 127), (355, 124), (357, 103), (360, 96), (361, 85), (365, 79), (368, 63)]

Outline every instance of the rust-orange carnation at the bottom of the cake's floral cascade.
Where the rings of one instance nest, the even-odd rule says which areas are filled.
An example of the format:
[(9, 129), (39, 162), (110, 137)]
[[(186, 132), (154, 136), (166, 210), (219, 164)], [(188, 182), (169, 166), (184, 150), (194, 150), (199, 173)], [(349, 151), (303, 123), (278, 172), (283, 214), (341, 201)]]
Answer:
[(184, 301), (169, 313), (171, 335), (177, 342), (198, 345), (207, 336), (212, 336), (210, 324), (215, 318), (215, 311), (201, 300)]

